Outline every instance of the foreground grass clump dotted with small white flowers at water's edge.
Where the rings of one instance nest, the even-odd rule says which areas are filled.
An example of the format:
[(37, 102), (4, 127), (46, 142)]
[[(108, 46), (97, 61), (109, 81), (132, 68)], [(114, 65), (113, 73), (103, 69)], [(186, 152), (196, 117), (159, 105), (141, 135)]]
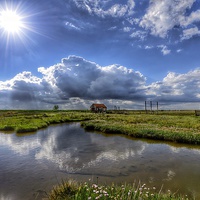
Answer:
[(125, 184), (110, 186), (92, 184), (90, 182), (77, 183), (62, 182), (53, 188), (48, 196), (49, 200), (187, 200), (187, 196), (173, 194), (169, 190), (166, 194), (161, 189), (149, 188), (146, 184)]

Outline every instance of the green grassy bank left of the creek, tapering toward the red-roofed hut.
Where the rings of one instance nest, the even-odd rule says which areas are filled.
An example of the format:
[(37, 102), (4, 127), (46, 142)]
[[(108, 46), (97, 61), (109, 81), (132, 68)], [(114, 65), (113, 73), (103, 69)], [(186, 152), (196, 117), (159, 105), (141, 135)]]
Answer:
[(90, 119), (91, 113), (66, 111), (1, 111), (0, 130), (16, 133), (35, 132), (50, 124)]

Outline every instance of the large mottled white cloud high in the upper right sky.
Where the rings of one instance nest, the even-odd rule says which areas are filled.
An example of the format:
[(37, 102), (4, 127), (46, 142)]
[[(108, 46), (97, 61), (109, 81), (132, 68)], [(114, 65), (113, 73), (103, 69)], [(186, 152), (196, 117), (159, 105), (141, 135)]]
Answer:
[(140, 26), (154, 36), (165, 38), (169, 30), (183, 24), (186, 10), (195, 0), (150, 0), (149, 8), (140, 21)]

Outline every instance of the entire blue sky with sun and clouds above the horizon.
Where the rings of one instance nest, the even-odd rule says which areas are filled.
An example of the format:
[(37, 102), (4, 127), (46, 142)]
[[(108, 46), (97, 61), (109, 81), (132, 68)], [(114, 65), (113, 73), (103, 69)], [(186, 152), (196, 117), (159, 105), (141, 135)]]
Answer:
[(200, 0), (0, 0), (0, 109), (200, 109)]

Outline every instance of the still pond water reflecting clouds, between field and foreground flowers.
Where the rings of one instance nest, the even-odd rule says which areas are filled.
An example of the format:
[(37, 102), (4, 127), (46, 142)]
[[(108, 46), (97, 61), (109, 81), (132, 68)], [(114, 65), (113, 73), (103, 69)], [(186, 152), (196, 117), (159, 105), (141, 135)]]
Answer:
[(0, 200), (42, 199), (68, 178), (140, 181), (200, 199), (200, 148), (86, 132), (79, 123), (0, 132)]

